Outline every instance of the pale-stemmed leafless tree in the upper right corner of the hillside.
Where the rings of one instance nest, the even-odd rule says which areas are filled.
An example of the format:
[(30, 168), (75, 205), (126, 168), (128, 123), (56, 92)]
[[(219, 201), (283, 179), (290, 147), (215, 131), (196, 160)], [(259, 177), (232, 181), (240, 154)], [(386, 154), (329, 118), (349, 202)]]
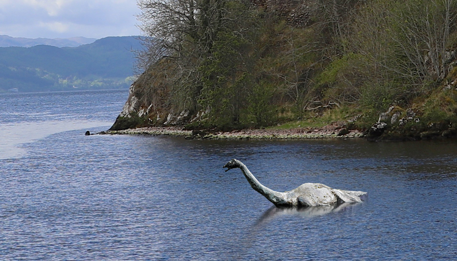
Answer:
[(423, 80), (440, 81), (446, 76), (446, 48), (455, 26), (453, 0), (415, 0), (393, 11), (397, 34), (393, 39), (407, 59), (404, 70)]

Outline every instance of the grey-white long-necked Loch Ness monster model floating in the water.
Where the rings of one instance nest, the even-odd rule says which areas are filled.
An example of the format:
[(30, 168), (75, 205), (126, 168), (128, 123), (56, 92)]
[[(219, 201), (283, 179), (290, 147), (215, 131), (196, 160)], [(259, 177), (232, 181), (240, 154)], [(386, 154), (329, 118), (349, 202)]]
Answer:
[(223, 168), (227, 168), (225, 171), (235, 168), (241, 169), (251, 187), (264, 195), (277, 207), (330, 206), (338, 203), (357, 203), (362, 202), (360, 197), (367, 194), (367, 192), (363, 191), (334, 189), (320, 183), (305, 183), (296, 189), (278, 192), (260, 184), (248, 168), (237, 159), (228, 161)]

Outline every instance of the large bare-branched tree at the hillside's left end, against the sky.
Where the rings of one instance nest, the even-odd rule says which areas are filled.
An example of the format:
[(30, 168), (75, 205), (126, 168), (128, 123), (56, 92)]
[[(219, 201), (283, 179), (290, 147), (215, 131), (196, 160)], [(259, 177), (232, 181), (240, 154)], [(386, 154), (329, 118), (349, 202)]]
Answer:
[(199, 68), (211, 56), (219, 32), (236, 30), (243, 24), (243, 1), (228, 0), (138, 0), (138, 20), (144, 33), (144, 52), (139, 67), (146, 71), (162, 59), (173, 70), (172, 103), (177, 109), (198, 106), (202, 88)]

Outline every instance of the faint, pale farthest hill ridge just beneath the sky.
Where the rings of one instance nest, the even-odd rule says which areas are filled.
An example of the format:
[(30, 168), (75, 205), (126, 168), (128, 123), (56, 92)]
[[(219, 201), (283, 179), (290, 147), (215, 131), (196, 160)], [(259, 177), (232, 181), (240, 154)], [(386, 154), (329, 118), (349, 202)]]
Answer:
[(72, 38), (22, 38), (0, 36), (0, 47), (32, 47), (36, 45), (51, 45), (55, 47), (78, 47), (83, 44), (95, 42), (94, 38), (72, 37)]

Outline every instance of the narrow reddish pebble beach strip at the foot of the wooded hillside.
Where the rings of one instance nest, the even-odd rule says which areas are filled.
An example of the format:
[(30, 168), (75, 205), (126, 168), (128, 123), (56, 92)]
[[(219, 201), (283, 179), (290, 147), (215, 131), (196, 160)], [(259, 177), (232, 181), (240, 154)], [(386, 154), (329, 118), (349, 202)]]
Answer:
[(321, 128), (291, 128), (291, 129), (241, 129), (232, 132), (205, 133), (202, 131), (186, 131), (182, 127), (141, 127), (123, 129), (120, 131), (106, 131), (103, 135), (151, 135), (183, 137), (187, 140), (301, 140), (327, 138), (360, 138), (364, 137), (361, 131), (348, 130), (342, 127), (328, 125)]

